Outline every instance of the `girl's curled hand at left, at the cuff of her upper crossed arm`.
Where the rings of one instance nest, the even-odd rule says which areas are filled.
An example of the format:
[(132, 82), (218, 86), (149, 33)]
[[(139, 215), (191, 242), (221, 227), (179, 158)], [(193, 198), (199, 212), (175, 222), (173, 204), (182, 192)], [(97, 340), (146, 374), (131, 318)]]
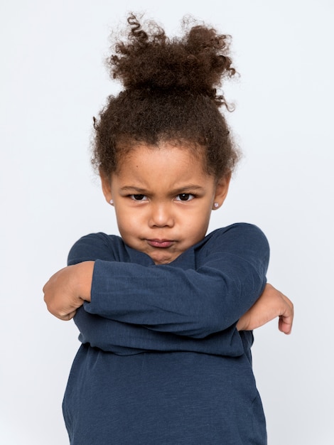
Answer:
[(60, 320), (70, 320), (84, 301), (90, 301), (94, 261), (64, 267), (43, 287), (48, 311)]

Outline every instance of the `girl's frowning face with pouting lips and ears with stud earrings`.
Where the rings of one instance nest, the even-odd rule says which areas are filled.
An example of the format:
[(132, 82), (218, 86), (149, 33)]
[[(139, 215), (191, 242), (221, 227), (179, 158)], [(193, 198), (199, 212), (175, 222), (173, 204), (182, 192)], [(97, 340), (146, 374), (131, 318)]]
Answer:
[(216, 181), (203, 170), (202, 156), (165, 143), (135, 146), (117, 173), (101, 179), (126, 245), (156, 264), (168, 264), (203, 240), (214, 203), (222, 205), (230, 177)]

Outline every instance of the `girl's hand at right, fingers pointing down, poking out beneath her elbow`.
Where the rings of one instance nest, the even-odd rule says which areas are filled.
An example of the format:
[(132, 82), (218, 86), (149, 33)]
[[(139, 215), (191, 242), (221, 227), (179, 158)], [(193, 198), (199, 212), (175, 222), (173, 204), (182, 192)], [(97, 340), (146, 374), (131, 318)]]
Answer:
[(257, 302), (239, 318), (238, 331), (252, 331), (279, 317), (279, 331), (291, 333), (293, 322), (293, 304), (287, 296), (266, 284), (263, 294)]

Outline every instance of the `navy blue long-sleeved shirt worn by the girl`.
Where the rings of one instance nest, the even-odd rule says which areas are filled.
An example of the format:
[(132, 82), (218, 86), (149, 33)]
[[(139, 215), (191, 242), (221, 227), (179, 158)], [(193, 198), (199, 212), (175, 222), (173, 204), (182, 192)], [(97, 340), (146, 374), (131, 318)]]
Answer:
[(269, 245), (258, 227), (215, 230), (170, 264), (120, 237), (82, 237), (91, 302), (63, 401), (74, 445), (266, 444), (252, 332), (237, 321), (262, 294)]

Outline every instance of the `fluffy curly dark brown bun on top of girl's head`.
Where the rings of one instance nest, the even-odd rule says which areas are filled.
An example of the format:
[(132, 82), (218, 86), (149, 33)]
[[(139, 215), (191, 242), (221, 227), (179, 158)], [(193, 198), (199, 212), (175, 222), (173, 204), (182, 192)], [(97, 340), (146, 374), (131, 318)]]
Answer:
[[(131, 14), (128, 23), (128, 41), (117, 42), (108, 60), (112, 77), (121, 80), (126, 90), (188, 90), (217, 101), (216, 87), (223, 77), (235, 74), (227, 55), (230, 36), (197, 25), (182, 38), (169, 39), (154, 22), (147, 23), (144, 31)], [(219, 99), (224, 103), (223, 97)]]

